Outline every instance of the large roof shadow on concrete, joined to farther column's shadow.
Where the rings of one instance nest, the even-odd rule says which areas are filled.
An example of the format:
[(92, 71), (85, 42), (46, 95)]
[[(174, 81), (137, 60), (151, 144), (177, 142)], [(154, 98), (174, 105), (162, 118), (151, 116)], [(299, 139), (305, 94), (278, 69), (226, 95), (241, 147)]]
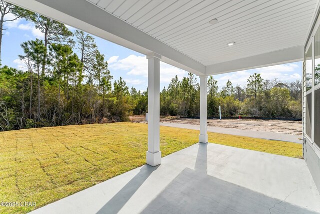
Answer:
[(185, 168), (142, 213), (316, 213), (207, 175), (206, 147), (199, 143), (194, 170)]

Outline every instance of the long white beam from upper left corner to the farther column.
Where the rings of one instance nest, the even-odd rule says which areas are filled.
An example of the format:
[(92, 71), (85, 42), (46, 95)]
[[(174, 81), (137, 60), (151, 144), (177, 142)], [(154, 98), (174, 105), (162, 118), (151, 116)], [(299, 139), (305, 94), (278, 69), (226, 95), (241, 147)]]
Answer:
[(162, 56), (161, 61), (196, 75), (205, 73), (205, 66), (201, 63), (84, 0), (8, 0), (7, 2), (141, 54), (157, 53)]

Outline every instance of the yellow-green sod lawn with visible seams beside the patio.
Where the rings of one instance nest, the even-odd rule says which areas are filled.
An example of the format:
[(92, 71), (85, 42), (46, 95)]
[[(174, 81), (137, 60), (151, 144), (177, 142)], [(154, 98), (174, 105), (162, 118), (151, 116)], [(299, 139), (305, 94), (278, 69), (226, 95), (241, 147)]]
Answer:
[[(198, 141), (199, 131), (160, 128), (162, 156)], [(209, 141), (300, 158), (302, 145), (209, 133)], [(28, 212), (145, 163), (147, 125), (112, 123), (0, 132), (0, 201), (35, 201)]]

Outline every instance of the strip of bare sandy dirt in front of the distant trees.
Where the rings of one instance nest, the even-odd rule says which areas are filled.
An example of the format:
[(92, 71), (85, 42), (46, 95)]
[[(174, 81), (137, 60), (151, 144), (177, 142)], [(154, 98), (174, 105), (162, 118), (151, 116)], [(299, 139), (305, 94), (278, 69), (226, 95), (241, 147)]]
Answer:
[[(131, 122), (146, 123), (143, 116), (131, 116)], [(199, 119), (185, 119), (185, 118), (161, 118), (160, 122), (167, 123), (183, 123), (183, 124), (193, 124), (199, 125)], [(287, 121), (287, 120), (208, 120), (208, 126), (216, 126), (222, 128), (235, 128), (243, 130), (253, 130), (253, 131), (267, 131), (283, 134), (293, 134), (302, 135), (302, 122), (301, 121)]]

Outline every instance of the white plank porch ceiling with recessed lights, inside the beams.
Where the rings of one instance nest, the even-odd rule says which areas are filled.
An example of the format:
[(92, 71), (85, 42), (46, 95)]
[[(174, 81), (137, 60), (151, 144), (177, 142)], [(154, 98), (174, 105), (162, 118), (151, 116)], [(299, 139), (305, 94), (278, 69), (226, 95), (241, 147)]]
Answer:
[[(316, 0), (87, 0), (207, 66), (304, 45)], [(211, 19), (218, 23), (210, 25)], [(228, 47), (228, 42), (235, 42)]]

